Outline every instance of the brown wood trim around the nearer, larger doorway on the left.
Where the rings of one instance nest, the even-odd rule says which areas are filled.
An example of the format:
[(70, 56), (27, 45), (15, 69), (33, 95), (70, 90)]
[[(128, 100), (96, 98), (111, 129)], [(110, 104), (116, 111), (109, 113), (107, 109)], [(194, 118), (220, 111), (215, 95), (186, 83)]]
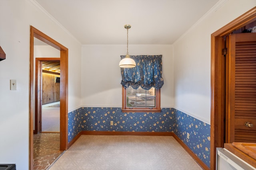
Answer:
[(34, 37), (60, 50), (60, 72), (62, 74), (60, 83), (60, 150), (68, 149), (68, 49), (35, 27), (30, 26), (30, 170), (33, 169)]

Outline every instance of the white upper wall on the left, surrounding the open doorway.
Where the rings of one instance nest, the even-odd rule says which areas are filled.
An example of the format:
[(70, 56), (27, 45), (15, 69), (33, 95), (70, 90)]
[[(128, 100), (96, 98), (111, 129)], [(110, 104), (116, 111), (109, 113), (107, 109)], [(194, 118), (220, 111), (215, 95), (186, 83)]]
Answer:
[[(68, 48), (68, 110), (81, 104), (81, 45), (30, 0), (0, 0), (0, 164), (29, 168), (30, 25)], [(17, 90), (10, 90), (10, 79)]]

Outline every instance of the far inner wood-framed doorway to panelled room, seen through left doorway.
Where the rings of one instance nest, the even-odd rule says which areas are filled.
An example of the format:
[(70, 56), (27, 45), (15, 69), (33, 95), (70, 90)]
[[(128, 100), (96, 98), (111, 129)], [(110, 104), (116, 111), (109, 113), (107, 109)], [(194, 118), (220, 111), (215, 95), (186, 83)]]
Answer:
[(60, 58), (36, 58), (35, 131), (60, 133)]

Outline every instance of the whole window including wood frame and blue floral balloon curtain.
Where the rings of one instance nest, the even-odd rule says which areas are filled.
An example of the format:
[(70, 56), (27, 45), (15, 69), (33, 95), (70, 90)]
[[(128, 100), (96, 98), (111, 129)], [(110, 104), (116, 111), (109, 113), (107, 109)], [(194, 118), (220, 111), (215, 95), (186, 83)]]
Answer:
[(160, 112), (160, 88), (164, 84), (162, 55), (130, 57), (136, 66), (121, 68), (122, 112)]

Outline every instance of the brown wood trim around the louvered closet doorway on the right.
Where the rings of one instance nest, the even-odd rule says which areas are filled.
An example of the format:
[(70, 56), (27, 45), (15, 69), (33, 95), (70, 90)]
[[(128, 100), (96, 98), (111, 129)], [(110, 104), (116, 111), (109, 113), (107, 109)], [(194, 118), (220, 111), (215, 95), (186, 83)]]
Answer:
[(222, 37), (253, 21), (256, 21), (256, 7), (211, 35), (211, 170), (216, 168), (216, 147), (224, 147), (225, 137), (225, 61), (222, 55)]

